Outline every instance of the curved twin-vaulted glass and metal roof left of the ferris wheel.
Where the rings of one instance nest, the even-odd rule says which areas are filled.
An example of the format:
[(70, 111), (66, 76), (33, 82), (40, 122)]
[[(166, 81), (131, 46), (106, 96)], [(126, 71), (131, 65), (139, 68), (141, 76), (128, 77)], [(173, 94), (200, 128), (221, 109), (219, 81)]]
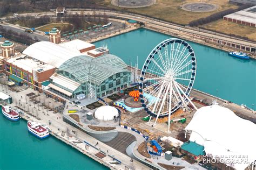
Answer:
[(80, 83), (90, 80), (99, 85), (114, 74), (129, 72), (126, 68), (126, 63), (116, 55), (106, 54), (97, 58), (79, 55), (64, 62), (58, 72), (61, 70), (68, 72)]

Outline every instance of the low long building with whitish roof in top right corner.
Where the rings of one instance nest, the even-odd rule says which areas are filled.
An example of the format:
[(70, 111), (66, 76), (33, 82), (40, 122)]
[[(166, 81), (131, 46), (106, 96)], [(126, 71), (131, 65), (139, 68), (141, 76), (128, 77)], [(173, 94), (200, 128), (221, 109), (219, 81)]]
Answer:
[[(255, 0), (256, 1), (256, 0)], [(256, 6), (223, 17), (228, 22), (256, 27)]]

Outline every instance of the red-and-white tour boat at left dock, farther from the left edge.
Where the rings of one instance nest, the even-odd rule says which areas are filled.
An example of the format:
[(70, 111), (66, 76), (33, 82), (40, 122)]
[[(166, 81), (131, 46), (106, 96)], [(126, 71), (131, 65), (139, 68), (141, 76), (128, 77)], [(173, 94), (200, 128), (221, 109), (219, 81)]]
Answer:
[(28, 130), (36, 137), (43, 139), (49, 137), (49, 131), (41, 123), (28, 121)]

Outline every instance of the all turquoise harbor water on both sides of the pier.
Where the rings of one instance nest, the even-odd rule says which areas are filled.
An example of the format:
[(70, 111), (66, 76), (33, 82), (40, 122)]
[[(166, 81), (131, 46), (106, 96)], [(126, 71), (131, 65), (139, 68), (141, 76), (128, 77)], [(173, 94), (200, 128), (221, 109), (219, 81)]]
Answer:
[[(128, 65), (137, 60), (142, 68), (147, 55), (165, 34), (139, 29), (95, 44), (110, 49)], [(227, 52), (189, 42), (197, 56), (197, 75), (194, 88), (212, 95), (246, 104), (256, 104), (256, 61), (228, 56)], [(0, 109), (1, 110), (1, 109)], [(0, 112), (1, 113), (1, 112)], [(32, 136), (26, 121), (11, 122), (0, 115), (0, 169), (107, 169), (95, 160), (78, 152), (62, 141)]]

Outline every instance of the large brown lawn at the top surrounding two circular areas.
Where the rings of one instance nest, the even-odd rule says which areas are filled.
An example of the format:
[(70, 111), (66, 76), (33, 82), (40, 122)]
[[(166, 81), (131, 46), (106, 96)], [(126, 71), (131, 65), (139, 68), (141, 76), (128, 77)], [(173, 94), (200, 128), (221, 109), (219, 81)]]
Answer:
[(188, 24), (192, 20), (207, 17), (219, 11), (238, 8), (237, 5), (229, 4), (228, 0), (206, 0), (203, 2), (218, 4), (218, 10), (212, 11), (212, 12), (189, 12), (189, 11), (184, 11), (180, 9), (181, 5), (188, 2), (200, 2), (200, 1), (198, 0), (157, 0), (157, 3), (152, 6), (137, 8), (137, 9), (118, 8), (117, 6), (113, 6), (111, 4), (111, 0), (103, 0), (102, 2), (98, 2), (98, 4), (109, 6), (110, 8), (114, 8), (114, 9), (143, 13), (148, 16), (157, 17), (160, 19), (168, 20), (170, 22), (175, 22), (179, 24)]

